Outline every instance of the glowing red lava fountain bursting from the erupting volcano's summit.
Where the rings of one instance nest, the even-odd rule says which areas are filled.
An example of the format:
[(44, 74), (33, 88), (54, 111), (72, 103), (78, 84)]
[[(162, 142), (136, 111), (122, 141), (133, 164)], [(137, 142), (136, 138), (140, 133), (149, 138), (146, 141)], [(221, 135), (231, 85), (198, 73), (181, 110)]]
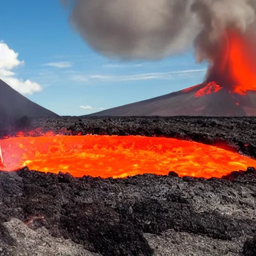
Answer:
[(223, 88), (240, 95), (256, 90), (256, 50), (250, 36), (226, 31), (214, 54), (205, 86), (195, 92), (195, 97)]

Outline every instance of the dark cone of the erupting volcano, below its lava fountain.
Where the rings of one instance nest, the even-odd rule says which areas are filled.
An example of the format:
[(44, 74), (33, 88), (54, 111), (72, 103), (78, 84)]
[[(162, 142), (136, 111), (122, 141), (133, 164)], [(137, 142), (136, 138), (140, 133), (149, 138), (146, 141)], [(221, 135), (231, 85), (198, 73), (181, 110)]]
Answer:
[[(256, 115), (256, 91), (247, 91), (246, 95), (241, 95), (222, 87), (214, 92), (216, 87), (212, 85), (216, 84), (204, 82), (166, 95), (106, 109), (87, 116)], [(195, 94), (200, 90), (208, 94), (196, 97)]]

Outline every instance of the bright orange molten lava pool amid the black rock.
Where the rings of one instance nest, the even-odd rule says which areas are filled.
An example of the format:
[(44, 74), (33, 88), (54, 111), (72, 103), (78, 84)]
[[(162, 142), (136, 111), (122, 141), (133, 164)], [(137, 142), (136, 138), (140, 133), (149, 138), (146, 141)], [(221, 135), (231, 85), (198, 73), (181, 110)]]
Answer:
[(126, 177), (175, 171), (180, 176), (221, 177), (256, 167), (256, 160), (215, 146), (163, 137), (48, 135), (0, 140), (2, 170), (27, 166), (73, 176)]

